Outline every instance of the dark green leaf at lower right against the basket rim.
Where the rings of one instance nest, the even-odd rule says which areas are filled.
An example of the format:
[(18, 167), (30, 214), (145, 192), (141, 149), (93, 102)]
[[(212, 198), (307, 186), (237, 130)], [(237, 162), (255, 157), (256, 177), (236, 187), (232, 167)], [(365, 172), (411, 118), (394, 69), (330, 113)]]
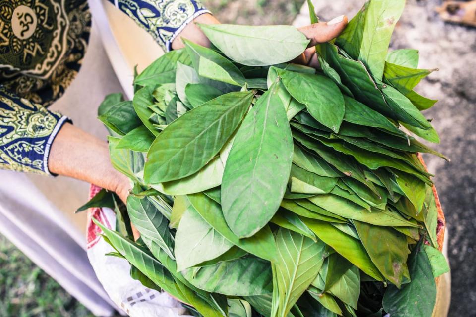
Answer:
[(383, 308), (392, 317), (431, 316), (436, 303), (436, 283), (428, 256), (420, 242), (408, 259), (411, 282), (400, 289), (390, 285)]

